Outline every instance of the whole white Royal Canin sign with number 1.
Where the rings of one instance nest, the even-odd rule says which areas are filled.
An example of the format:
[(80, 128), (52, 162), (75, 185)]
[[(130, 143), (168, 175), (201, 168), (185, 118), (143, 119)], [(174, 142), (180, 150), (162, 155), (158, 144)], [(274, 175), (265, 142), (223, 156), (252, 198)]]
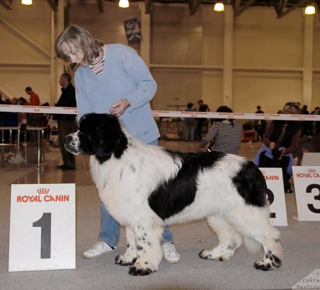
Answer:
[(12, 184), (9, 271), (74, 268), (74, 183)]

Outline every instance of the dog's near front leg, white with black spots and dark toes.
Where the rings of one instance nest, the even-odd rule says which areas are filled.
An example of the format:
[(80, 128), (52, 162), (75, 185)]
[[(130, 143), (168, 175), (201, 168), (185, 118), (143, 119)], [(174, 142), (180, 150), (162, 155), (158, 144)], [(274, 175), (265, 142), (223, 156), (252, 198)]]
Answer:
[(162, 258), (160, 240), (162, 239), (163, 225), (159, 217), (143, 216), (133, 226), (135, 233), (135, 248), (137, 259), (129, 267), (130, 275), (148, 275), (158, 270)]

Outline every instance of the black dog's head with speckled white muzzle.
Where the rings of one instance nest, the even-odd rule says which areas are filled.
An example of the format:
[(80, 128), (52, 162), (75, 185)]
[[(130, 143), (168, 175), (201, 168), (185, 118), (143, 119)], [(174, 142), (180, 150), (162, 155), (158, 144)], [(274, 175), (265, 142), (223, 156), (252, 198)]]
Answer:
[(64, 137), (65, 148), (74, 155), (95, 155), (101, 163), (114, 154), (119, 158), (127, 147), (115, 115), (88, 113), (78, 122), (78, 130)]

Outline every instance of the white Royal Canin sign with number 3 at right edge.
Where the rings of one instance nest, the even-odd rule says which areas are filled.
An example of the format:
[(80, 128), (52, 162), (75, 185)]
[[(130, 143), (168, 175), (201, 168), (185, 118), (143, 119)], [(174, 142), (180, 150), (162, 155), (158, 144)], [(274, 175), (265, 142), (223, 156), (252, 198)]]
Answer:
[(292, 166), (299, 221), (320, 220), (320, 166)]

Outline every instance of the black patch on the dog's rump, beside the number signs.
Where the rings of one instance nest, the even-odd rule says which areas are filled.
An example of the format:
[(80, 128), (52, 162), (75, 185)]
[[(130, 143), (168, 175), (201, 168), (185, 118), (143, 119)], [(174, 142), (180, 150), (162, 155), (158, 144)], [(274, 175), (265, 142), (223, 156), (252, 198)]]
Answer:
[(265, 179), (252, 161), (243, 163), (240, 171), (232, 178), (232, 182), (246, 204), (266, 205)]

